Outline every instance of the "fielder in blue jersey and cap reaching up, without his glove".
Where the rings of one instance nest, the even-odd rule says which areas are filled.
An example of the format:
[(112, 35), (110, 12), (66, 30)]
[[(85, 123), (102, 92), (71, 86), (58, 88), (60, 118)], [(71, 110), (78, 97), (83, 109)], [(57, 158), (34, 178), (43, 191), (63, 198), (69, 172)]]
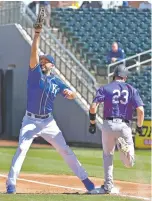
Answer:
[(62, 94), (67, 99), (74, 99), (76, 94), (51, 72), (55, 66), (51, 55), (43, 55), (39, 58), (40, 32), (41, 28), (35, 29), (28, 69), (27, 110), (20, 130), (19, 145), (6, 181), (7, 193), (16, 192), (16, 180), (26, 153), (34, 138), (38, 136), (45, 139), (60, 153), (73, 173), (90, 191), (94, 188), (94, 184), (88, 178), (87, 172), (73, 151), (66, 144), (52, 115), (53, 103), (57, 94)]

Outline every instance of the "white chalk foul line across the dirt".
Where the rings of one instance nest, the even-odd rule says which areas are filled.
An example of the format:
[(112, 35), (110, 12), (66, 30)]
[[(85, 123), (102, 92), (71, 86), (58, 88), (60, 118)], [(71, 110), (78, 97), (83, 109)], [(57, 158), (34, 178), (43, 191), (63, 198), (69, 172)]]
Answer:
[[(3, 174), (0, 174), (0, 177), (7, 178), (7, 176), (3, 175)], [(64, 188), (64, 189), (70, 189), (70, 190), (78, 190), (78, 191), (86, 192), (85, 189), (81, 189), (81, 188), (72, 188), (72, 187), (69, 187), (69, 186), (50, 184), (50, 183), (45, 183), (45, 182), (40, 182), (40, 181), (34, 181), (34, 180), (29, 180), (29, 179), (17, 179), (17, 180), (19, 180), (19, 181), (26, 181), (26, 182), (29, 182), (29, 183), (46, 185), (46, 186), (53, 186), (53, 187), (58, 187), (58, 188)], [(145, 197), (141, 197), (141, 196), (133, 196), (133, 195), (125, 195), (125, 194), (118, 194), (118, 196), (128, 197), (128, 198), (142, 199), (142, 200), (147, 200), (147, 201), (151, 200), (150, 198), (145, 198)]]

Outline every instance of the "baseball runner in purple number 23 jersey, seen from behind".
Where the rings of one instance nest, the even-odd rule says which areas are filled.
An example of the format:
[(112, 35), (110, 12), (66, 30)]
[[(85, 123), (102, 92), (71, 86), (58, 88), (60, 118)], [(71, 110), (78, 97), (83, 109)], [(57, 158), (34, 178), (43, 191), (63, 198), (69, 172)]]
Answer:
[(104, 104), (102, 145), (104, 162), (104, 185), (91, 193), (118, 193), (113, 184), (113, 154), (117, 145), (123, 164), (130, 168), (134, 165), (134, 143), (131, 120), (133, 111), (137, 111), (137, 131), (142, 133), (144, 120), (143, 101), (138, 91), (126, 83), (128, 70), (119, 65), (114, 70), (113, 81), (98, 89), (90, 106), (89, 132), (96, 132), (96, 111), (100, 103)]

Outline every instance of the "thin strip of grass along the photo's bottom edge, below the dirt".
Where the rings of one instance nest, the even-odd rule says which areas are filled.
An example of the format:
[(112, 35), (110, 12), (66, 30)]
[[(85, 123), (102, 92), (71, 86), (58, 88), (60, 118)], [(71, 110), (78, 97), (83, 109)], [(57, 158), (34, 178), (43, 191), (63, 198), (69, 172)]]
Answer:
[[(135, 198), (122, 198), (101, 195), (2, 195), (0, 201), (139, 201)], [(140, 200), (141, 201), (141, 200)]]

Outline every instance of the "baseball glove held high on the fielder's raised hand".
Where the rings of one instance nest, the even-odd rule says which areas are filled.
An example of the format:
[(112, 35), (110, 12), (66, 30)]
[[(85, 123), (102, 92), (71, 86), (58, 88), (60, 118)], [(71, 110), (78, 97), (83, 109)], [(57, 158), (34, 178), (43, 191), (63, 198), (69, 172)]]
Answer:
[(34, 24), (35, 29), (42, 29), (42, 25), (44, 24), (46, 14), (45, 14), (45, 8), (40, 7), (39, 14), (37, 16), (37, 20)]

